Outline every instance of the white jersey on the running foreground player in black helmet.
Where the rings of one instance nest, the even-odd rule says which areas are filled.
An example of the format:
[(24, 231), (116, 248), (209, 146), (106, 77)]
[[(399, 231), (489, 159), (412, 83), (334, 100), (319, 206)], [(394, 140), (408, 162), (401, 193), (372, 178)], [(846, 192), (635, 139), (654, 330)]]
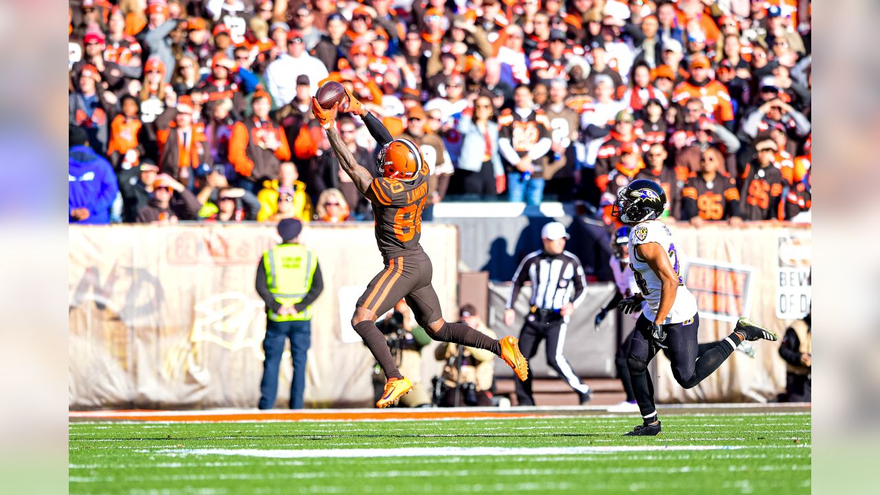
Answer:
[(693, 299), (693, 294), (687, 290), (684, 280), (681, 278), (679, 254), (672, 242), (672, 233), (663, 222), (657, 220), (634, 225), (633, 233), (629, 236), (629, 259), (630, 265), (633, 267), (635, 283), (639, 285), (639, 290), (648, 303), (644, 306), (642, 314), (650, 321), (654, 321), (656, 310), (660, 307), (660, 289), (663, 286), (648, 262), (640, 260), (638, 252), (635, 250), (639, 244), (648, 244), (649, 242), (656, 242), (664, 248), (664, 251), (669, 254), (672, 270), (678, 273), (678, 293), (669, 314), (666, 315), (664, 324), (680, 323), (693, 318), (693, 315), (697, 314), (697, 301)]

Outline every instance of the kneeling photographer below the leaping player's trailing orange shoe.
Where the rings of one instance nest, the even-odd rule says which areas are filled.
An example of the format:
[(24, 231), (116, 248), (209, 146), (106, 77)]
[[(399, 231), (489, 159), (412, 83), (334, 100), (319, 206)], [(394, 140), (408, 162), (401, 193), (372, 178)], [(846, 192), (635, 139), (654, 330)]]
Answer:
[[(495, 332), (477, 315), (473, 305), (461, 307), (461, 321), (473, 329), (496, 338)], [(492, 380), (495, 378), (495, 354), (492, 351), (462, 348), (458, 344), (441, 343), (434, 357), (445, 361), (440, 385), (440, 407), (492, 406)], [(459, 373), (460, 372), (460, 373)], [(435, 379), (436, 380), (436, 379)]]

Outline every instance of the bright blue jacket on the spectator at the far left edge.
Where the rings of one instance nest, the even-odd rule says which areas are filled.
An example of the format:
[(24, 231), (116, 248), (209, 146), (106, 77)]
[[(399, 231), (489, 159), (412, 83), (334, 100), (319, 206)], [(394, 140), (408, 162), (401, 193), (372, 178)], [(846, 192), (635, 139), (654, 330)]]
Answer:
[(82, 221), (68, 216), (70, 224), (108, 224), (110, 206), (119, 187), (110, 162), (88, 146), (74, 146), (68, 154), (68, 213), (79, 208), (89, 210)]

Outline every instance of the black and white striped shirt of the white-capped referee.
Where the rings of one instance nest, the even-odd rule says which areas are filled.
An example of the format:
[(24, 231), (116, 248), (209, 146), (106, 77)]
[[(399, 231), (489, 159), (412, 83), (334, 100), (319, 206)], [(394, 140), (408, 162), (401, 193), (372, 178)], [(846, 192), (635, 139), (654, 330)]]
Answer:
[(532, 299), (529, 303), (539, 309), (560, 309), (568, 302), (577, 307), (586, 295), (586, 279), (581, 262), (568, 251), (550, 255), (540, 249), (525, 256), (513, 275), (513, 291), (507, 299), (508, 308), (513, 307), (526, 281), (532, 282)]

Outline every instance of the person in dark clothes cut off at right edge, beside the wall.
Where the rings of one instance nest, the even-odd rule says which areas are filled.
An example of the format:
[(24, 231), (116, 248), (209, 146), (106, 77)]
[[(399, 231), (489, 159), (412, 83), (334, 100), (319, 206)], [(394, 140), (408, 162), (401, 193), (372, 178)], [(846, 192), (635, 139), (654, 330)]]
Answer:
[(812, 402), (813, 332), (812, 313), (785, 331), (779, 355), (786, 362), (786, 393), (780, 402)]

